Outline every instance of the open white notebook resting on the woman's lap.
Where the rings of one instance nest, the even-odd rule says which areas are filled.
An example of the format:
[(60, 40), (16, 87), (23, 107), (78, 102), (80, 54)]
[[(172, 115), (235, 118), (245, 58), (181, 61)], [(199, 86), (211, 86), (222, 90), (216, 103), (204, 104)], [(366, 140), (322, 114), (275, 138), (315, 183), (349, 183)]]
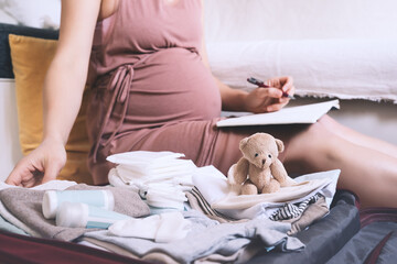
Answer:
[(216, 123), (217, 127), (242, 127), (288, 123), (315, 123), (332, 108), (340, 108), (339, 100), (283, 108), (277, 112), (248, 114), (228, 118)]

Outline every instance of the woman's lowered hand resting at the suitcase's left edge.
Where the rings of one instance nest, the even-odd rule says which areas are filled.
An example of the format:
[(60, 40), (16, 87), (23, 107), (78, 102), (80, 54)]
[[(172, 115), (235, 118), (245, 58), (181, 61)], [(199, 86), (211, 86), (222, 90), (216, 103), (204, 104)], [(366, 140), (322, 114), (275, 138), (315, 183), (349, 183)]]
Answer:
[(26, 188), (44, 184), (55, 179), (65, 163), (66, 151), (63, 143), (44, 140), (15, 165), (6, 184)]

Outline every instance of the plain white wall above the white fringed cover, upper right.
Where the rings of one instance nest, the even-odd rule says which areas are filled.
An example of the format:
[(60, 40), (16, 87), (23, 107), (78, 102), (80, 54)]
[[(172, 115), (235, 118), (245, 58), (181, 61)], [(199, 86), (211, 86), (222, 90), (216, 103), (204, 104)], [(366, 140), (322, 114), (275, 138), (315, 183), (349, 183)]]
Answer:
[(396, 0), (205, 0), (208, 42), (397, 38)]

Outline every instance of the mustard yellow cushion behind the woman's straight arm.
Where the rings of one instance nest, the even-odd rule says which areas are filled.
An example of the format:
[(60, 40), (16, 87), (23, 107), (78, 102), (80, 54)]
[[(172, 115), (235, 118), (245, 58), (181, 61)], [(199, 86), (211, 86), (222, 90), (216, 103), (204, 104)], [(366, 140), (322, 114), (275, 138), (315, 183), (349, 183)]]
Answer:
[[(57, 41), (10, 34), (9, 42), (15, 76), (19, 139), (22, 153), (28, 155), (42, 141), (42, 86), (55, 54)], [(93, 184), (87, 169), (90, 146), (85, 127), (88, 92), (88, 89), (84, 92), (81, 111), (66, 144), (67, 162), (58, 179)]]

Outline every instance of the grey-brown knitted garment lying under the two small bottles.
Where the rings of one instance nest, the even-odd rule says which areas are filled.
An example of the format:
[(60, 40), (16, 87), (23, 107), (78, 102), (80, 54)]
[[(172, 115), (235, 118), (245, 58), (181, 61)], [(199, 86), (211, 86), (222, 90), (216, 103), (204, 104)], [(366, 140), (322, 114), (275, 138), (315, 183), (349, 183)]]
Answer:
[[(75, 185), (67, 189), (109, 189), (115, 197), (115, 211), (131, 217), (142, 217), (150, 213), (149, 207), (140, 197), (135, 191), (124, 187)], [(44, 193), (45, 190), (8, 188), (0, 190), (0, 200), (10, 213), (39, 233), (41, 238), (72, 241), (85, 232), (93, 231), (83, 228), (56, 227), (55, 220), (45, 219), (42, 212)]]

